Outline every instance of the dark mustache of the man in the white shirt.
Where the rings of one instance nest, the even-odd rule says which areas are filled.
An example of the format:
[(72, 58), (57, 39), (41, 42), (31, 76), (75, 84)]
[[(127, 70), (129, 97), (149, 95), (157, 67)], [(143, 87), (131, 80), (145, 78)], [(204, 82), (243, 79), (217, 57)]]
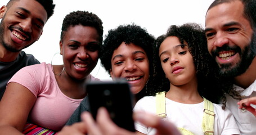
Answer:
[(235, 51), (236, 53), (240, 53), (241, 54), (241, 48), (239, 46), (228, 46), (228, 45), (225, 45), (225, 46), (222, 46), (222, 47), (217, 47), (215, 50), (212, 51), (212, 56), (213, 57), (216, 57), (216, 56), (219, 56), (219, 52), (222, 52), (222, 51)]

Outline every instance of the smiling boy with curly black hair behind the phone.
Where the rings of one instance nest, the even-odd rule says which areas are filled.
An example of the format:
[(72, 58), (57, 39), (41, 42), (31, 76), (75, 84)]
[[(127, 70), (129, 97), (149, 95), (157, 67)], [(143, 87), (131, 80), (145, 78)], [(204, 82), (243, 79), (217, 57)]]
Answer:
[[(125, 78), (131, 84), (136, 101), (150, 95), (150, 74), (152, 73), (152, 54), (154, 37), (138, 25), (120, 25), (109, 30), (100, 60), (111, 78)], [(146, 85), (147, 84), (147, 85)], [(81, 121), (83, 111), (89, 111), (87, 97), (75, 110), (68, 125)]]

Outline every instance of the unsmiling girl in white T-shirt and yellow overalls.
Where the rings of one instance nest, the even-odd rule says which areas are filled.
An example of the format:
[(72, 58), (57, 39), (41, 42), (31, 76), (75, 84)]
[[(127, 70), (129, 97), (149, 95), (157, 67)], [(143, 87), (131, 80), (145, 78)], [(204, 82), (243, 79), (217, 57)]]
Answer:
[[(163, 82), (158, 89), (167, 92), (143, 97), (134, 111), (157, 114), (183, 134), (240, 134), (231, 112), (204, 98), (216, 98), (211, 100), (216, 102), (223, 92), (216, 89), (219, 82), (210, 69), (214, 65), (199, 25), (170, 26), (167, 34), (157, 39), (155, 50), (158, 75), (154, 78)], [(155, 134), (155, 129), (141, 123), (136, 123), (136, 129), (138, 134)]]

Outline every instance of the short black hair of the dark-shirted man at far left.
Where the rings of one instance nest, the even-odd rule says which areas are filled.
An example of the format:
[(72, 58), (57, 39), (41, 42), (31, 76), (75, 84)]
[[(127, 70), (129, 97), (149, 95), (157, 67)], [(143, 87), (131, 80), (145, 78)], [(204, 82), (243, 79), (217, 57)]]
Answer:
[[(7, 3), (7, 7), (11, 7), (15, 1), (20, 1), (20, 0), (10, 0)], [(35, 0), (35, 1), (39, 2), (43, 6), (44, 10), (46, 10), (47, 20), (48, 20), (53, 15), (53, 12), (54, 12), (55, 4), (53, 4), (53, 1), (52, 0)]]

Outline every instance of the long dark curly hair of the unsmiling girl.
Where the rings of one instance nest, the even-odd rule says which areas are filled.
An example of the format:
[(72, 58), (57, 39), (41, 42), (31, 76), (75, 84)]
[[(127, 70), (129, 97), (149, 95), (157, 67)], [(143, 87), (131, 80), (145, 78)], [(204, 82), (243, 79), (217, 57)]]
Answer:
[(164, 39), (170, 36), (178, 37), (181, 44), (185, 41), (188, 43), (188, 50), (196, 68), (199, 94), (216, 104), (219, 104), (219, 101), (222, 100), (224, 109), (226, 104), (224, 92), (227, 89), (232, 91), (232, 83), (223, 81), (218, 77), (217, 64), (208, 53), (204, 30), (199, 24), (195, 23), (187, 23), (181, 26), (172, 25), (166, 34), (156, 39), (154, 46), (154, 88), (156, 90), (154, 93), (169, 91), (170, 88), (169, 80), (165, 78), (159, 59), (159, 47)]

